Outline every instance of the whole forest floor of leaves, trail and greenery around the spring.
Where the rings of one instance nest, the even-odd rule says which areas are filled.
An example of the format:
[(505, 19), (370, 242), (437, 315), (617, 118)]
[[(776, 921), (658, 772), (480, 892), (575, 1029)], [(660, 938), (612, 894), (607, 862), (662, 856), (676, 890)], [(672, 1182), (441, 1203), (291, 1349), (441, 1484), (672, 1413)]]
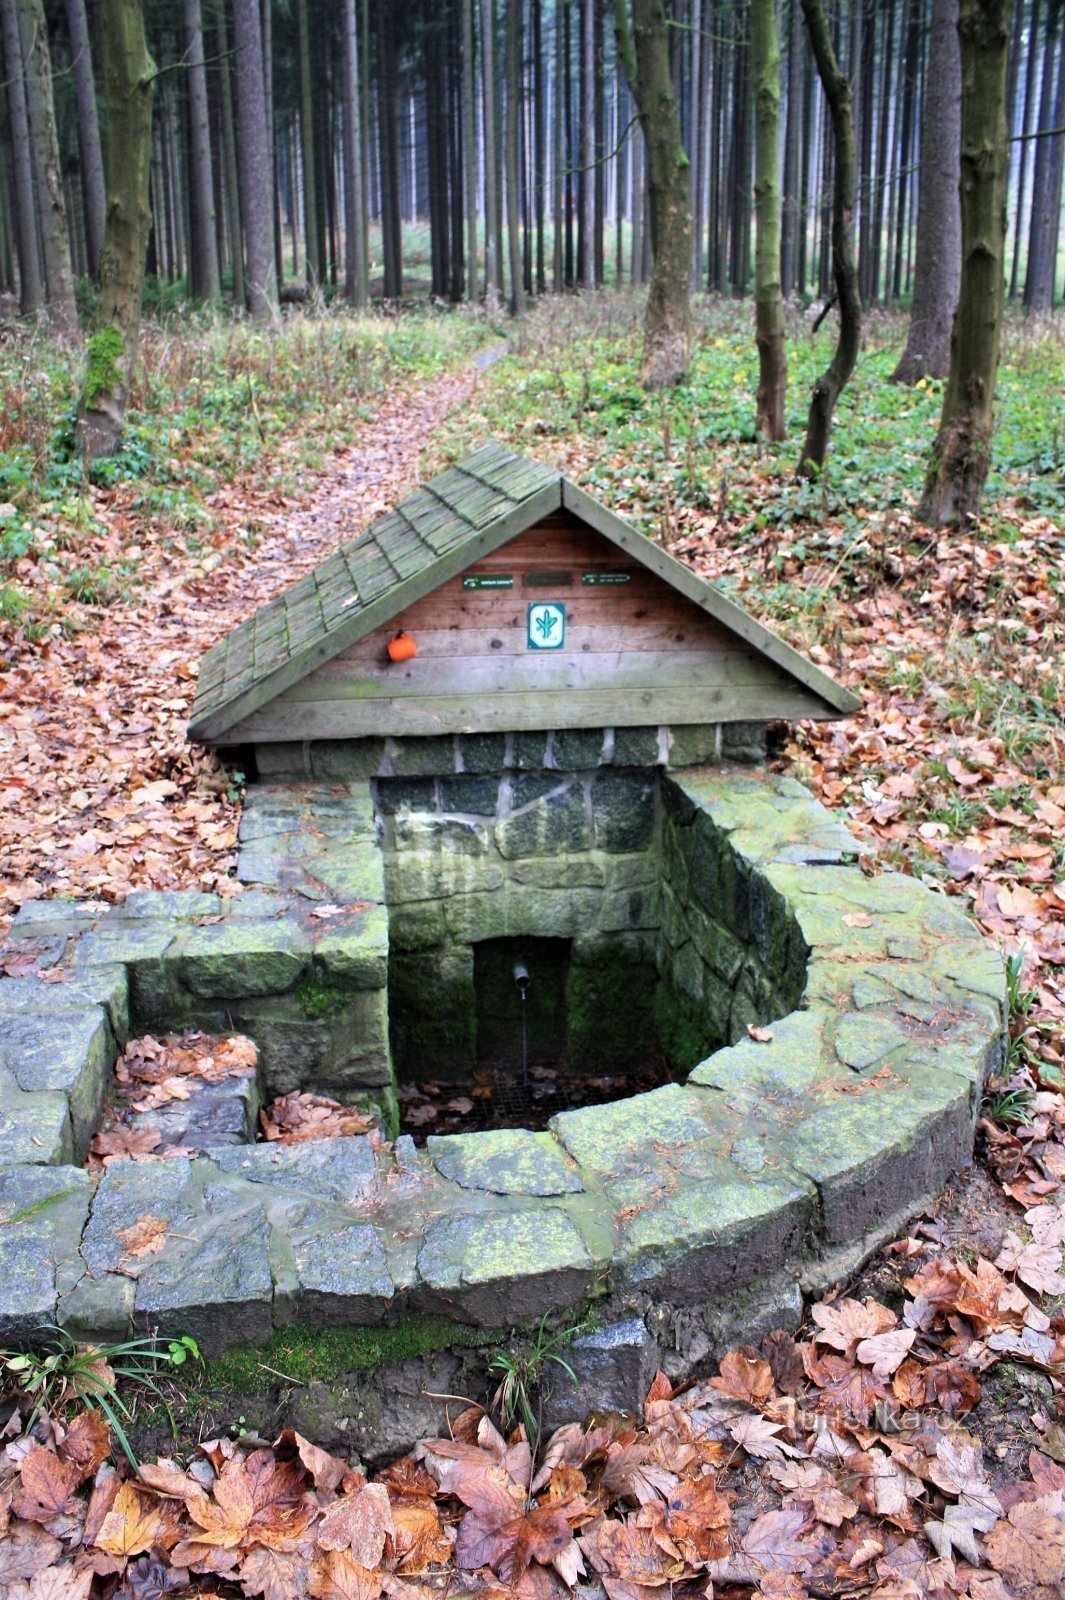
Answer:
[(940, 538), (913, 520), (939, 386), (886, 381), (902, 323), (870, 318), (809, 486), (790, 469), (828, 330), (811, 341), (795, 314), (792, 440), (769, 448), (752, 437), (747, 322), (702, 304), (691, 381), (665, 397), (636, 386), (625, 294), (539, 307), (480, 374), (499, 330), (477, 318), (294, 318), (273, 342), (162, 330), (125, 456), (88, 485), (72, 374), (37, 338), (0, 347), (8, 912), (224, 888), (241, 782), (184, 744), (198, 658), (491, 434), (563, 466), (862, 694), (848, 722), (784, 730), (777, 760), (868, 842), (868, 870), (916, 874), (979, 918), (1012, 957), (1014, 1008), (977, 1163), (811, 1307), (798, 1341), (732, 1352), (676, 1395), (662, 1379), (632, 1418), (574, 1419), (534, 1456), (467, 1414), (369, 1485), (293, 1435), (251, 1453), (179, 1437), (181, 1466), (136, 1480), (107, 1466), (98, 1413), (38, 1419), (32, 1440), (13, 1421), (5, 1594), (1060, 1595), (1065, 330), (1009, 330), (987, 512)]

